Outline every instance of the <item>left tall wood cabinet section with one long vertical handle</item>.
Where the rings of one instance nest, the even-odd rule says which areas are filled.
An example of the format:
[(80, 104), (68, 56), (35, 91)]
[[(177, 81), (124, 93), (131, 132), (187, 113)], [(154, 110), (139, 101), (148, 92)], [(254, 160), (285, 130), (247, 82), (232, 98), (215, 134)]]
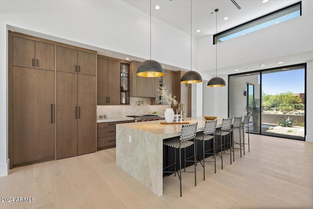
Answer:
[[(54, 45), (9, 36), (10, 167), (54, 159)], [(11, 53), (12, 52), (12, 53)], [(13, 125), (11, 125), (13, 124)]]

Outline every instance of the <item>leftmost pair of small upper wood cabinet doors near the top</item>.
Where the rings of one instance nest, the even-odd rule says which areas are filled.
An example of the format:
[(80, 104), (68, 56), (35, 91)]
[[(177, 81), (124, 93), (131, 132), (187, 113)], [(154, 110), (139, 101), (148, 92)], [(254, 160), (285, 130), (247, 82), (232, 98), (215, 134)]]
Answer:
[(13, 36), (13, 66), (54, 70), (54, 45)]

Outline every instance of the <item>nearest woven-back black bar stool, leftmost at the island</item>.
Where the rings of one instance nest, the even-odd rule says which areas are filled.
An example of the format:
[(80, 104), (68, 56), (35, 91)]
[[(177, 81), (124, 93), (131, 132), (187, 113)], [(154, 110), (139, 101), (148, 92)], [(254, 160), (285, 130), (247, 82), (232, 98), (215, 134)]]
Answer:
[[(164, 173), (175, 173), (175, 176), (176, 176), (176, 172), (177, 172), (177, 174), (179, 176), (179, 181), (180, 181), (180, 197), (182, 196), (181, 195), (181, 149), (189, 147), (193, 144), (194, 144), (194, 161), (193, 162), (195, 164), (195, 171), (184, 171), (184, 172), (195, 173), (195, 186), (197, 186), (196, 155), (195, 155), (195, 153), (196, 153), (196, 146), (195, 146), (196, 138), (195, 137), (197, 134), (197, 126), (198, 126), (198, 122), (193, 123), (193, 124), (188, 124), (188, 125), (182, 125), (179, 138), (175, 138), (175, 139), (171, 139), (171, 140), (163, 142), (164, 145), (175, 148), (175, 163), (170, 164), (170, 165), (166, 166), (165, 168), (163, 168), (163, 169), (166, 169), (172, 165), (175, 165), (175, 171), (163, 171), (163, 172)], [(190, 141), (190, 140), (193, 140), (193, 141)], [(178, 172), (177, 166), (176, 166), (176, 150), (177, 149), (179, 149), (179, 172)], [(184, 157), (184, 162), (185, 161), (186, 161), (186, 158)]]

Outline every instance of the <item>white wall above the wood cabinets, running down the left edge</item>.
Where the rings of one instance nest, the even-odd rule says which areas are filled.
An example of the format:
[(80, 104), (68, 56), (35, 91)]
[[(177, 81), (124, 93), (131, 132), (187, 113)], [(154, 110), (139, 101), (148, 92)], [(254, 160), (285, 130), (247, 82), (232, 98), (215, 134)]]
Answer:
[[(0, 1), (0, 176), (7, 174), (7, 30), (149, 59), (150, 16), (120, 0)], [(193, 39), (193, 70), (198, 68)], [(190, 69), (190, 36), (152, 18), (152, 59)]]

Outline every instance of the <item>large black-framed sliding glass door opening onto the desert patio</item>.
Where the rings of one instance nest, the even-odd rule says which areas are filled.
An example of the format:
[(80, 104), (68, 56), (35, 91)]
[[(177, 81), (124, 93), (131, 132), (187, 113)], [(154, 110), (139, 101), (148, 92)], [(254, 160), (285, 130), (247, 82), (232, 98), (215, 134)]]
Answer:
[(228, 89), (228, 115), (249, 115), (250, 133), (305, 139), (305, 65), (229, 75)]

